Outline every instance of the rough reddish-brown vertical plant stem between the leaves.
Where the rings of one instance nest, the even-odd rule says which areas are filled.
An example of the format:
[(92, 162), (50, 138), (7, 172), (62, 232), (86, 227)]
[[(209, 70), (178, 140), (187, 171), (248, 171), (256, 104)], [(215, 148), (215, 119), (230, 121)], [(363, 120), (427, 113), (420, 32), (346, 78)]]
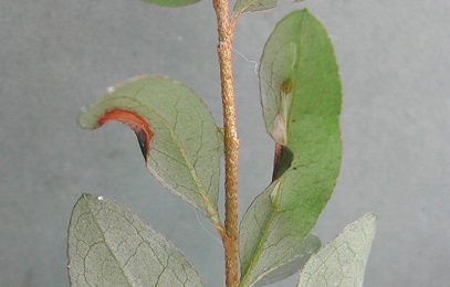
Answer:
[(230, 24), (228, 0), (213, 0), (217, 14), (219, 45), (217, 47), (222, 87), (224, 157), (226, 157), (226, 253), (227, 287), (238, 287), (238, 153), (239, 138), (236, 124), (232, 42), (234, 25)]

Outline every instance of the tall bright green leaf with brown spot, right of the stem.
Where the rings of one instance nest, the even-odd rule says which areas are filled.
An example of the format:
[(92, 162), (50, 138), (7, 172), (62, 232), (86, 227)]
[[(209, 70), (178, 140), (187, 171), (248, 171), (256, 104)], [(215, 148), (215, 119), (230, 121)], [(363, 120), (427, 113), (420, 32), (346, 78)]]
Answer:
[(291, 257), (315, 225), (339, 173), (341, 81), (332, 43), (306, 10), (285, 17), (265, 44), (260, 88), (276, 142), (273, 182), (240, 227), (241, 286)]

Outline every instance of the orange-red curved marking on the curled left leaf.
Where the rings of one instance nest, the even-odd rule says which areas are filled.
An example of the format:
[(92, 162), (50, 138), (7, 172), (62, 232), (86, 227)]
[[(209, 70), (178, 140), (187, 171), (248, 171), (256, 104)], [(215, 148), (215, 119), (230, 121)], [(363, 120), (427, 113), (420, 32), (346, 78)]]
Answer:
[(98, 119), (98, 125), (103, 126), (105, 123), (111, 120), (121, 121), (135, 131), (137, 140), (139, 141), (140, 150), (143, 151), (143, 156), (147, 161), (148, 157), (150, 156), (150, 144), (154, 136), (150, 123), (135, 111), (116, 108), (106, 111)]

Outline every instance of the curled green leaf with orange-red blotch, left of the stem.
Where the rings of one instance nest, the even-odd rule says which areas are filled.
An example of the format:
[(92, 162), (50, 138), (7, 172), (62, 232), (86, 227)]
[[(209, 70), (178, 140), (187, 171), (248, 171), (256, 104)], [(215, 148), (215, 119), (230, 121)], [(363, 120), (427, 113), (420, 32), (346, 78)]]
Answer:
[(187, 86), (165, 76), (139, 76), (109, 87), (82, 111), (95, 129), (109, 120), (128, 125), (147, 169), (177, 195), (218, 220), (222, 136), (211, 113)]

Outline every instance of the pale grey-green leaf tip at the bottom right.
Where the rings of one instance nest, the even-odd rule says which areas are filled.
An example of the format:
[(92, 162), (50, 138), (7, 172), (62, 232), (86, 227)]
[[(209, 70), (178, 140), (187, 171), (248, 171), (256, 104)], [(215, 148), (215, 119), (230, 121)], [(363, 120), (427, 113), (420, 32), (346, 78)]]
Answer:
[(311, 256), (301, 272), (299, 287), (363, 286), (376, 225), (377, 216), (368, 213), (345, 227)]

